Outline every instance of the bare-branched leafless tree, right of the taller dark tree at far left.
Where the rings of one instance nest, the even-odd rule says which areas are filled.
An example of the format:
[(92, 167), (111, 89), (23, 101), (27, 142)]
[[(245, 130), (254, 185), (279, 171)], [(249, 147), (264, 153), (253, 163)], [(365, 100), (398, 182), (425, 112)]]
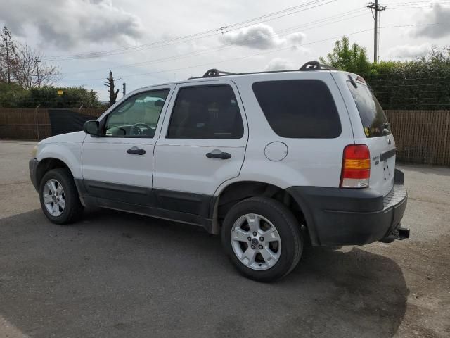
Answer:
[(20, 87), (30, 89), (32, 87), (51, 86), (60, 77), (58, 67), (47, 65), (43, 56), (27, 44), (18, 48), (17, 65), (13, 68), (15, 80)]

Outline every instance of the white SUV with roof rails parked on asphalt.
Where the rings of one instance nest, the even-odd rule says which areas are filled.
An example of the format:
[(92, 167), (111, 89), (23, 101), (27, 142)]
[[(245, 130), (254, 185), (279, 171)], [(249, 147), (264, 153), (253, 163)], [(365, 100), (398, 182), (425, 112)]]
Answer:
[(261, 281), (293, 270), (306, 241), (409, 237), (383, 109), (362, 77), (315, 61), (138, 89), (39, 142), (30, 176), (53, 223), (100, 206), (200, 225)]

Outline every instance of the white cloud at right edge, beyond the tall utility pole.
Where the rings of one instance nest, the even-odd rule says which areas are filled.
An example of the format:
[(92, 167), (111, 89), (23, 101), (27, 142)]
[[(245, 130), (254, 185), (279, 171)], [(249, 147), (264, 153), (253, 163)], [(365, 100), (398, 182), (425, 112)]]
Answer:
[(422, 18), (421, 23), (437, 23), (437, 25), (418, 26), (413, 30), (414, 37), (438, 39), (450, 35), (450, 8), (436, 4)]

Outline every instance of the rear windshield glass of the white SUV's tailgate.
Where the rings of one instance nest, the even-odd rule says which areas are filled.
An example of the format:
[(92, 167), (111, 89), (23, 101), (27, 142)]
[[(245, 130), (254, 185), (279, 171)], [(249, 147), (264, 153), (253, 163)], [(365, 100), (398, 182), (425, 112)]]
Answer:
[(347, 81), (347, 86), (352, 93), (356, 108), (358, 108), (366, 137), (383, 136), (383, 130), (387, 130), (385, 134), (390, 134), (390, 127), (389, 123), (387, 123), (385, 112), (371, 89), (361, 83), (358, 83), (355, 88), (352, 82), (349, 81)]

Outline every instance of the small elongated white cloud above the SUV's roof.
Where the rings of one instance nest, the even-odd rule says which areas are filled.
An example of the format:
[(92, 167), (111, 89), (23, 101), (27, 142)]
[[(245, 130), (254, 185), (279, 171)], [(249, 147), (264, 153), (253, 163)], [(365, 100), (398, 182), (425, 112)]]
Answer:
[(302, 32), (295, 32), (281, 37), (276, 34), (274, 28), (265, 23), (259, 23), (221, 35), (222, 42), (236, 44), (238, 46), (247, 46), (253, 49), (297, 46), (302, 44), (304, 38), (305, 35)]

